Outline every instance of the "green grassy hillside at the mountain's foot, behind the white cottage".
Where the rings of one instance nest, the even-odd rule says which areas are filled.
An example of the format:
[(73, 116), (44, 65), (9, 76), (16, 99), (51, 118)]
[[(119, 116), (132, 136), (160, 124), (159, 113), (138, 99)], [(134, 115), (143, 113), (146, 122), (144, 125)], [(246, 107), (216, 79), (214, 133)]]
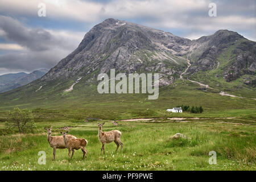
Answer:
[[(97, 85), (89, 85), (82, 81), (74, 86), (74, 90), (64, 93), (63, 90), (71, 84), (72, 82), (67, 82), (56, 86), (57, 83), (53, 82), (52, 85), (43, 87), (38, 92), (27, 88), (31, 89), (32, 93), (15, 92), (11, 94), (11, 100), (8, 100), (9, 97), (5, 100), (5, 95), (2, 94), (4, 104), (1, 104), (0, 109), (5, 111), (18, 106), (34, 110), (38, 108), (69, 110), (81, 115), (82, 118), (102, 119), (163, 117), (167, 114), (166, 109), (181, 104), (203, 106), (204, 113), (199, 117), (207, 117), (213, 113), (216, 117), (221, 117), (229, 111), (232, 111), (229, 115), (232, 117), (234, 110), (238, 110), (239, 114), (242, 114), (240, 110), (249, 110), (251, 111), (249, 113), (253, 114), (256, 109), (256, 100), (221, 96), (219, 92), (222, 89), (202, 90), (200, 85), (187, 80), (177, 80), (173, 85), (161, 87), (157, 100), (148, 100), (147, 94), (99, 94)], [(249, 93), (246, 89), (240, 91), (242, 95)], [(8, 96), (9, 93), (5, 94)], [(253, 92), (251, 97), (255, 97)], [(191, 113), (183, 114), (191, 115)]]

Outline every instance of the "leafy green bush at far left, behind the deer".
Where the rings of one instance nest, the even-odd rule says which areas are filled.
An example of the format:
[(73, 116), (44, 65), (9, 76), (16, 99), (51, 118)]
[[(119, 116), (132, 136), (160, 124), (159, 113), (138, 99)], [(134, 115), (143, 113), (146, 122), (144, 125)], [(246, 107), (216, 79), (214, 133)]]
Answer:
[(36, 129), (34, 122), (34, 116), (31, 110), (14, 108), (9, 112), (9, 117), (5, 122), (5, 129), (9, 131), (18, 130), (19, 133), (25, 133), (26, 131), (33, 132)]

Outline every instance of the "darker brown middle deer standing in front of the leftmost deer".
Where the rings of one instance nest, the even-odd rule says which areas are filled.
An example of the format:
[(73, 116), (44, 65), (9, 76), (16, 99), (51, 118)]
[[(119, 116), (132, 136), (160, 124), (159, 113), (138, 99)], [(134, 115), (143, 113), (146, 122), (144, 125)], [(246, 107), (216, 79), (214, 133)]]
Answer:
[(75, 150), (79, 150), (81, 148), (82, 150), (82, 153), (84, 154), (82, 156), (82, 160), (84, 160), (84, 156), (85, 156), (85, 159), (87, 158), (87, 150), (85, 150), (85, 146), (86, 144), (88, 144), (88, 141), (84, 138), (68, 138), (67, 136), (67, 133), (62, 133), (60, 132), (62, 135), (63, 135), (63, 139), (64, 139), (64, 143), (65, 143), (65, 146), (68, 148), (68, 156), (70, 157), (70, 152), (72, 151), (72, 156), (71, 156), (71, 159), (73, 158), (73, 155), (74, 155), (74, 152)]

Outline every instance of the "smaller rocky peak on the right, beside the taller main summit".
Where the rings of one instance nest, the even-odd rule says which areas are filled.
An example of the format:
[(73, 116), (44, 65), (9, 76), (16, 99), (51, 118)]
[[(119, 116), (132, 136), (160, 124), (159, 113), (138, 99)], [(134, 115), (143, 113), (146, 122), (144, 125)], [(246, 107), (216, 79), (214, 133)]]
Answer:
[[(223, 71), (220, 76), (228, 82), (242, 75), (255, 75), (255, 45), (255, 42), (228, 30), (219, 30), (214, 35), (193, 40), (189, 51), (192, 52), (191, 57), (194, 61), (188, 72), (195, 74), (222, 65)], [(226, 55), (225, 60), (221, 60), (222, 54)]]

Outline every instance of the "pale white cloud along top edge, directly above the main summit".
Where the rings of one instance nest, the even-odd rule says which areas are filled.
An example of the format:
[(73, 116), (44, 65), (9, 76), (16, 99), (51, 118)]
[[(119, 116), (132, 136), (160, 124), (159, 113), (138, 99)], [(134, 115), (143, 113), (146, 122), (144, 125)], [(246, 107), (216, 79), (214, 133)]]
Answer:
[[(121, 17), (121, 18), (141, 18), (151, 17), (162, 19), (170, 19), (177, 15), (188, 13), (188, 11), (197, 11), (207, 8), (208, 1), (203, 0), (184, 0), (184, 1), (138, 1), (124, 0), (113, 1), (107, 4), (105, 15)], [(168, 16), (166, 16), (168, 15)], [(161, 18), (161, 19), (159, 19)], [(174, 19), (175, 20), (175, 19)]]

